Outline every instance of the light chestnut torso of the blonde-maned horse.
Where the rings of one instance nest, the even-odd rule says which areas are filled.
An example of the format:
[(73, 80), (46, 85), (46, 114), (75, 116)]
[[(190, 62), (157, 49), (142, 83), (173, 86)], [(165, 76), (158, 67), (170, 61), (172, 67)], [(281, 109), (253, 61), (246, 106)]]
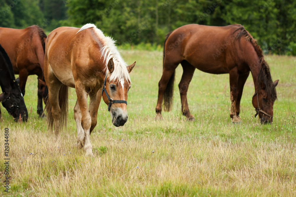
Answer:
[(102, 54), (92, 29), (77, 33), (79, 29), (57, 28), (49, 33), (45, 46), (48, 64), (44, 69), (47, 69), (47, 73), (53, 72), (59, 81), (73, 88), (75, 81), (81, 80), (80, 77), (91, 77), (96, 71), (103, 70), (97, 61)]

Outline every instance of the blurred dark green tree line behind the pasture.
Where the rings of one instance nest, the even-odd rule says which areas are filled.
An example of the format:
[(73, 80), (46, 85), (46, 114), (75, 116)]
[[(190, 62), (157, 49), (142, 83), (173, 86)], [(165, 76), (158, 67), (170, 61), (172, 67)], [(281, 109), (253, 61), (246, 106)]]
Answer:
[(165, 35), (186, 24), (242, 24), (265, 53), (296, 55), (295, 0), (0, 0), (0, 26), (59, 26), (94, 23), (118, 45), (162, 45)]

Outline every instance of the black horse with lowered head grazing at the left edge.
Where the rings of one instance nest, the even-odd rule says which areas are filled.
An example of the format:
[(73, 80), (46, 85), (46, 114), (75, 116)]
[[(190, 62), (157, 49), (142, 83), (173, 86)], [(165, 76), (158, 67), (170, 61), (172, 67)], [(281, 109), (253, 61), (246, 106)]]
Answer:
[[(12, 64), (5, 50), (0, 45), (0, 86), (2, 89), (2, 105), (15, 121), (28, 120), (28, 110), (20, 91), (20, 78), (15, 79)], [(0, 111), (1, 117), (1, 111)]]

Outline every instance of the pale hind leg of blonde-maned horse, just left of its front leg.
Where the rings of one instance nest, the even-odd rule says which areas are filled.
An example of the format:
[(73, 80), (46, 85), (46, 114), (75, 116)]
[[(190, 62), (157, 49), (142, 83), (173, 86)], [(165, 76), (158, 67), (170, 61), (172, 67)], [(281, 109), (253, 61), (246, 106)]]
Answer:
[(81, 111), (80, 111), (78, 100), (76, 100), (76, 104), (74, 107), (74, 119), (75, 119), (76, 128), (77, 128), (77, 146), (78, 148), (82, 148), (85, 143), (85, 134), (81, 126)]

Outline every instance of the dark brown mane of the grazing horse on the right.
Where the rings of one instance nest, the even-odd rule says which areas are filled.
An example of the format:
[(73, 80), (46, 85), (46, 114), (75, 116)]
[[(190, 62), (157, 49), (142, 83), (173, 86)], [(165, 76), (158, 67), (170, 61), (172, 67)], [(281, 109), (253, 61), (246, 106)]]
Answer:
[[(257, 40), (254, 39), (249, 32), (247, 32), (247, 30), (245, 30), (245, 28), (242, 25), (239, 25), (240, 27), (237, 28), (235, 32), (239, 31), (239, 33), (237, 35), (235, 35), (235, 38), (239, 41), (242, 37), (244, 37), (247, 41), (251, 42), (254, 50), (256, 51), (256, 54), (258, 55), (259, 58), (259, 62), (260, 62), (260, 72), (258, 75), (258, 84), (256, 89), (260, 90), (261, 88), (261, 82), (263, 82), (266, 86), (266, 96), (268, 97), (268, 99), (271, 100), (275, 100), (277, 99), (276, 96), (276, 88), (272, 82), (271, 79), (271, 74), (270, 74), (270, 69), (269, 66), (267, 64), (267, 62), (264, 60), (264, 56), (263, 56), (263, 51), (260, 47), (260, 45), (258, 44)], [(233, 34), (234, 34), (233, 33)], [(259, 64), (257, 64), (257, 66), (259, 66)]]

